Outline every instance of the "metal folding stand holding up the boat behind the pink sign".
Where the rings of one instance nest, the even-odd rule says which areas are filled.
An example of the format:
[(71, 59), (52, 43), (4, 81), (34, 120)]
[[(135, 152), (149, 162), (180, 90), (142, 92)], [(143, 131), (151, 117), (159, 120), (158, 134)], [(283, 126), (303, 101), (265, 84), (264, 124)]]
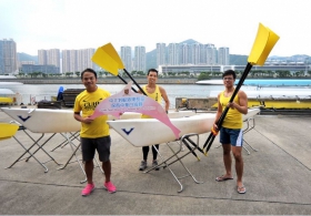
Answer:
[[(179, 154), (181, 151), (183, 151), (182, 144), (187, 145), (185, 138), (190, 138), (190, 136), (197, 136), (197, 146), (194, 146), (193, 148), (191, 148), (191, 151), (189, 150), (189, 152), (185, 153), (185, 154), (183, 154), (182, 156), (179, 156), (178, 154)], [(163, 166), (164, 168), (165, 168), (165, 167), (169, 168), (170, 173), (172, 174), (172, 176), (174, 177), (174, 179), (177, 181), (177, 183), (180, 185), (180, 189), (178, 191), (178, 193), (181, 193), (181, 192), (183, 191), (183, 186), (182, 186), (181, 182), (179, 181), (179, 179), (181, 179), (181, 178), (191, 176), (192, 179), (193, 179), (197, 184), (202, 184), (203, 182), (197, 181), (195, 177), (192, 175), (192, 173), (190, 173), (190, 171), (185, 167), (185, 165), (184, 165), (184, 164), (182, 163), (182, 161), (181, 161), (184, 156), (189, 155), (190, 153), (192, 153), (194, 150), (198, 148), (198, 146), (199, 146), (199, 135), (198, 135), (198, 134), (193, 134), (193, 133), (183, 135), (183, 136), (181, 137), (181, 140), (180, 140), (179, 150), (178, 150), (177, 152), (174, 152), (174, 150), (169, 145), (169, 143), (167, 143), (167, 145), (168, 145), (169, 148), (172, 151), (173, 155), (170, 156), (170, 157), (167, 158), (167, 160), (163, 160), (163, 156), (162, 156), (162, 155), (159, 153), (159, 151), (156, 148), (157, 152), (159, 153), (159, 156), (161, 157), (162, 163), (160, 163), (158, 166), (154, 166), (154, 167), (152, 167), (152, 168), (146, 171), (144, 173), (149, 173), (149, 172), (156, 169), (157, 167), (161, 167), (161, 166)], [(154, 146), (153, 146), (153, 147), (154, 147)], [(172, 157), (177, 157), (177, 160), (174, 160), (173, 162), (168, 163), (168, 161), (171, 160)], [(175, 174), (173, 173), (173, 171), (170, 168), (170, 165), (172, 165), (172, 164), (175, 163), (175, 162), (180, 162), (180, 164), (181, 164), (181, 165), (183, 166), (183, 168), (187, 171), (187, 173), (188, 173), (187, 175), (181, 176), (181, 177), (177, 177), (177, 175), (175, 175)]]

